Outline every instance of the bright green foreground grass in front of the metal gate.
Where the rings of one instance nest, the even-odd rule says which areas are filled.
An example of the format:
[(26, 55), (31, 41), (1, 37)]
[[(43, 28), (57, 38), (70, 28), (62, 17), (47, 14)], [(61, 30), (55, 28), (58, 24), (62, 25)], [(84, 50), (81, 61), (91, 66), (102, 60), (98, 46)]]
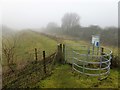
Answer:
[(108, 78), (99, 81), (97, 77), (72, 73), (69, 65), (58, 65), (52, 76), (42, 80), (36, 86), (40, 88), (118, 88), (118, 71), (111, 69)]

